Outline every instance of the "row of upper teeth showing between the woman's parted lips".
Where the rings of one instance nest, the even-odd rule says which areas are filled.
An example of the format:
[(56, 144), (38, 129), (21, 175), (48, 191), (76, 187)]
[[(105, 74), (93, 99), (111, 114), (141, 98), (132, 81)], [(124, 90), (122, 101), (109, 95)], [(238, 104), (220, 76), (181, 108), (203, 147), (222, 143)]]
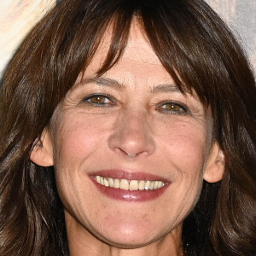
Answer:
[(166, 183), (162, 181), (150, 181), (150, 180), (127, 180), (119, 179), (113, 177), (102, 177), (96, 176), (97, 183), (102, 184), (106, 187), (111, 187), (115, 189), (125, 189), (125, 190), (153, 190), (160, 189), (164, 187)]

